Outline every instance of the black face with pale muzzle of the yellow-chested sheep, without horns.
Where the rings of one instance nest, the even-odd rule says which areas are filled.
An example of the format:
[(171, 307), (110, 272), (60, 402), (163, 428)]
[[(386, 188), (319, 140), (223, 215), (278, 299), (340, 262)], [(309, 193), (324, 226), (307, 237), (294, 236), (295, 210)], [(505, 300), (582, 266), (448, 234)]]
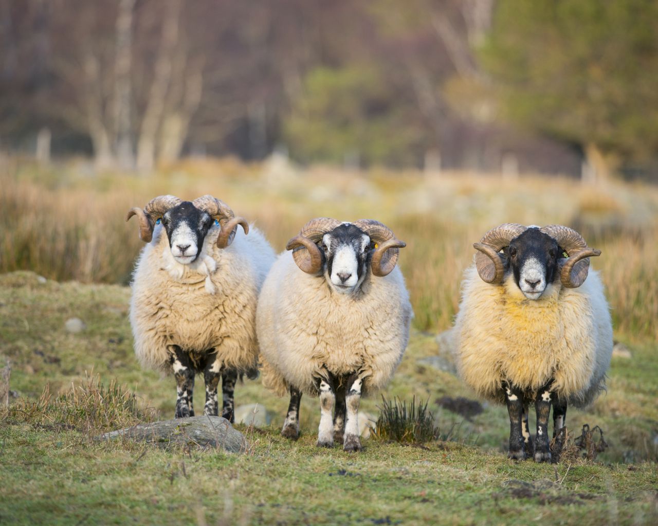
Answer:
[(504, 250), (514, 280), (528, 300), (538, 300), (559, 274), (562, 251), (551, 236), (539, 228), (528, 228)]

